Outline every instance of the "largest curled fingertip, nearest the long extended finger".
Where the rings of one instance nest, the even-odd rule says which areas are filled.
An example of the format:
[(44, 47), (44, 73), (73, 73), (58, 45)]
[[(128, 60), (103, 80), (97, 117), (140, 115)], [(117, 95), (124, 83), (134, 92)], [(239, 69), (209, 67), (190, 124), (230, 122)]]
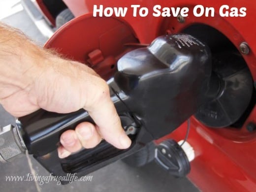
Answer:
[(101, 136), (96, 131), (95, 125), (82, 122), (75, 128), (75, 132), (85, 148), (93, 148), (101, 141)]

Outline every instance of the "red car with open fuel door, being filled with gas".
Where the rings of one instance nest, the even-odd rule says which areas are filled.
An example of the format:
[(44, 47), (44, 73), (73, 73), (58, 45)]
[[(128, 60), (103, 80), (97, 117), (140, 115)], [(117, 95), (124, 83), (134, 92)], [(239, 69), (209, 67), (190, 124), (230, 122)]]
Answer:
[[(67, 57), (90, 65), (106, 80), (113, 75), (117, 60), (125, 53), (145, 47), (161, 35), (186, 33), (204, 42), (211, 50), (214, 63), (212, 70), (223, 79), (226, 93), (211, 104), (203, 105), (190, 118), (190, 125), (188, 121), (184, 122), (173, 132), (155, 140), (153, 146), (152, 144), (146, 146), (151, 151), (145, 152), (144, 148), (143, 152), (139, 151), (125, 161), (130, 162), (134, 158), (140, 158), (133, 163), (145, 164), (148, 162), (147, 158), (152, 159), (157, 154), (155, 148), (160, 147), (162, 142), (169, 139), (177, 142), (183, 140), (187, 126), (190, 126), (186, 140), (189, 149), (183, 146), (187, 156), (188, 153), (192, 156), (188, 157), (191, 161), (191, 171), (187, 175), (189, 179), (205, 192), (255, 191), (256, 27), (252, 22), (256, 18), (256, 1), (36, 0), (36, 2), (51, 26), (60, 27), (72, 19), (54, 33), (45, 47), (56, 48)], [(135, 17), (134, 7), (131, 5), (137, 4), (139, 7)], [(96, 17), (94, 17), (94, 8), (100, 9), (100, 5), (102, 5), (102, 14), (105, 13), (107, 17), (100, 17), (100, 12), (95, 13)], [(202, 5), (195, 12), (200, 14), (197, 17), (193, 13), (196, 5)], [(114, 9), (113, 15), (108, 17), (111, 15), (111, 10), (104, 12), (107, 7), (128, 9), (124, 17), (115, 15)], [(147, 15), (146, 9), (140, 10), (142, 7), (146, 7), (149, 11)], [(183, 17), (179, 12), (175, 17), (177, 9), (174, 8), (177, 7), (189, 8), (188, 16)], [(68, 17), (65, 17), (63, 12), (68, 13)], [(165, 13), (162, 15), (163, 12)], [(243, 70), (248, 72), (245, 76), (239, 76)], [(160, 152), (165, 153), (166, 150)], [(161, 164), (162, 161), (159, 163)]]

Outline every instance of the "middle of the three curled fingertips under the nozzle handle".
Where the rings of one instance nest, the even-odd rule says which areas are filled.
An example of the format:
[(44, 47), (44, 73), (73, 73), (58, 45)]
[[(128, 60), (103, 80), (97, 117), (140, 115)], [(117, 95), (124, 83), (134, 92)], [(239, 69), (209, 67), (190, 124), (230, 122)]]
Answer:
[(60, 142), (63, 145), (63, 147), (71, 153), (76, 152), (82, 148), (82, 145), (80, 144), (79, 139), (74, 130), (65, 131), (61, 135)]

